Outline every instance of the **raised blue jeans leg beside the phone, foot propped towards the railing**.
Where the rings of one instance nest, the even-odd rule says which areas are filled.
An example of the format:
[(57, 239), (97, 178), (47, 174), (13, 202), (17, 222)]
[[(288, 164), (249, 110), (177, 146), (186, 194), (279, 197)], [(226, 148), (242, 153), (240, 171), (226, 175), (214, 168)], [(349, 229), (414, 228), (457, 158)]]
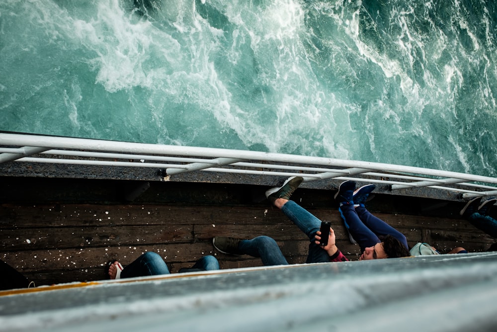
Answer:
[(294, 201), (288, 201), (283, 205), (281, 211), (300, 228), (308, 237), (311, 243), (309, 244), (309, 255), (306, 263), (323, 263), (329, 262), (330, 256), (328, 252), (319, 244), (316, 244), (314, 236), (321, 227), (321, 220), (316, 218), (310, 212), (302, 208)]

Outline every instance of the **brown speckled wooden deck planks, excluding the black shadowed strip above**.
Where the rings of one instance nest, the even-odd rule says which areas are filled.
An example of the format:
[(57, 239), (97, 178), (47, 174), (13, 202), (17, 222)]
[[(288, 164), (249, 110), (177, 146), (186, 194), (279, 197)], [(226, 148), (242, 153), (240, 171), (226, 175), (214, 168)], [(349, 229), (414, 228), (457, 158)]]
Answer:
[[(212, 200), (233, 196), (230, 190), (225, 195), (215, 189), (219, 193), (211, 196)], [(329, 197), (322, 199), (322, 193), (313, 196), (314, 192), (302, 190), (295, 200), (319, 219), (331, 221), (340, 250), (349, 259), (357, 259), (359, 248), (348, 241), (337, 208), (330, 208)], [(188, 197), (183, 196), (181, 202), (161, 204), (64, 204), (40, 198), (28, 204), (4, 200), (0, 204), (0, 258), (37, 285), (103, 279), (109, 260), (118, 259), (126, 265), (145, 251), (160, 253), (172, 273), (209, 254), (216, 255), (221, 268), (262, 265), (257, 258), (218, 253), (211, 243), (216, 235), (268, 235), (278, 242), (289, 263), (305, 262), (309, 240), (267, 201), (258, 203), (244, 197), (236, 204), (226, 204), (225, 200), (216, 205), (199, 204), (197, 197), (192, 200), (197, 203), (187, 204)], [(403, 232), (410, 245), (424, 241), (442, 252), (455, 246), (483, 251), (495, 242), (453, 211), (413, 215), (413, 207), (401, 213), (391, 201), (380, 196), (370, 209)], [(390, 210), (396, 213), (386, 213)]]

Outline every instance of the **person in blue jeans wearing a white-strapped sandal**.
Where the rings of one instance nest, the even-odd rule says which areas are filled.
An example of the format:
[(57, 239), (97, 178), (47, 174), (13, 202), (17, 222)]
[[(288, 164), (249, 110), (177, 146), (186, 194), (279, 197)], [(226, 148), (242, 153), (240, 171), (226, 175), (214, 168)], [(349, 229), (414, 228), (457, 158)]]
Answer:
[[(182, 268), (178, 272), (185, 273), (209, 270), (219, 270), (218, 260), (211, 255), (200, 258), (192, 267)], [(150, 251), (144, 253), (124, 268), (118, 261), (112, 261), (109, 263), (108, 269), (110, 279), (153, 276), (169, 273), (167, 264), (164, 259), (162, 259), (161, 255)]]

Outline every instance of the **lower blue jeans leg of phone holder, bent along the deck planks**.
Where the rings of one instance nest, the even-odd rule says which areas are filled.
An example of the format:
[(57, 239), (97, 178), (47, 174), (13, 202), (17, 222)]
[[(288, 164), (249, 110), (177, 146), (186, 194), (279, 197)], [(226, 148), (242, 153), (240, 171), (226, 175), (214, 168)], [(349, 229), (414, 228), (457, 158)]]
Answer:
[(269, 236), (257, 236), (251, 240), (242, 240), (238, 244), (238, 249), (244, 254), (260, 258), (265, 266), (288, 265), (278, 244)]

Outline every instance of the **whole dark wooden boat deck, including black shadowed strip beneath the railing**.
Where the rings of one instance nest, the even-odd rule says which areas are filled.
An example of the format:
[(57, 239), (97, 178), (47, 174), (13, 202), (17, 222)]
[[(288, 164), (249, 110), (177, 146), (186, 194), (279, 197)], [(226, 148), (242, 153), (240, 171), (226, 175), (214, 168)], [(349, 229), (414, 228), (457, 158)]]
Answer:
[[(0, 259), (37, 286), (102, 280), (108, 261), (126, 265), (146, 251), (159, 253), (171, 273), (204, 255), (215, 255), (221, 269), (262, 265), (258, 258), (216, 251), (212, 237), (218, 235), (268, 235), (290, 264), (307, 257), (309, 239), (265, 199), (267, 186), (36, 177), (1, 181)], [(331, 221), (338, 248), (357, 260), (359, 247), (348, 240), (334, 192), (299, 188), (292, 200)], [(385, 194), (367, 203), (372, 213), (403, 232), (409, 245), (428, 242), (442, 253), (456, 246), (485, 251), (495, 239), (459, 216), (463, 206)]]

